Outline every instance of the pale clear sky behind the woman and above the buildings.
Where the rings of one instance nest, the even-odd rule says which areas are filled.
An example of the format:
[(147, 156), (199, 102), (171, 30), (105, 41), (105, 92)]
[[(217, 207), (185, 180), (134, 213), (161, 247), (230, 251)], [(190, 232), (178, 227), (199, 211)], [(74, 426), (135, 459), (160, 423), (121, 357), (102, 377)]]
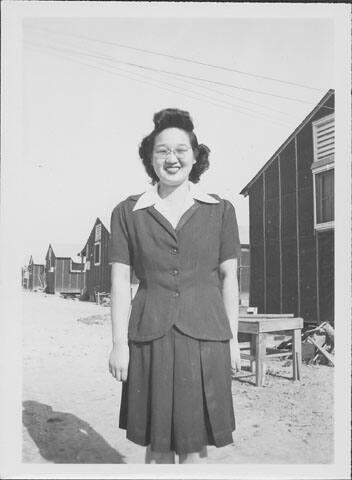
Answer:
[(96, 217), (109, 228), (148, 188), (138, 146), (167, 107), (190, 112), (211, 150), (200, 186), (234, 204), (247, 240), (239, 192), (334, 88), (333, 39), (324, 18), (25, 18), (23, 262), (83, 248)]

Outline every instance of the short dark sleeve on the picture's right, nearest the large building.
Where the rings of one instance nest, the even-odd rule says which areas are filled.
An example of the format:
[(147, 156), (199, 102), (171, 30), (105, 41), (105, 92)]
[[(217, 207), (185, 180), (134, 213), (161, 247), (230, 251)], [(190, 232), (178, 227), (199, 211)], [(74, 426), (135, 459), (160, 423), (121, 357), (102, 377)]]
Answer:
[(241, 256), (241, 244), (235, 208), (231, 202), (224, 200), (219, 262)]

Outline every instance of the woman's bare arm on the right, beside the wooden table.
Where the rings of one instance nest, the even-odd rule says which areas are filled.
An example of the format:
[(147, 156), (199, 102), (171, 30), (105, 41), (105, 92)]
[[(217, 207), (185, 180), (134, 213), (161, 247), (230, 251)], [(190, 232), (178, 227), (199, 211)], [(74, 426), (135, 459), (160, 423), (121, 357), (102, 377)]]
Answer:
[(237, 259), (225, 260), (220, 264), (222, 298), (230, 321), (233, 338), (230, 340), (231, 366), (234, 371), (241, 370), (240, 349), (238, 345), (239, 294), (237, 282)]

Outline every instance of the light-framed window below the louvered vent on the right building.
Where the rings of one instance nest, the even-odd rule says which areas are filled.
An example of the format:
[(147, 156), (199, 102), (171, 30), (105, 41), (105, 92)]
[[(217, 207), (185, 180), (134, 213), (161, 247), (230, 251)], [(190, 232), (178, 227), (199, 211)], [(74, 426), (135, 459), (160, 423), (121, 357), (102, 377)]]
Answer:
[(334, 226), (334, 167), (313, 171), (315, 197), (315, 228)]

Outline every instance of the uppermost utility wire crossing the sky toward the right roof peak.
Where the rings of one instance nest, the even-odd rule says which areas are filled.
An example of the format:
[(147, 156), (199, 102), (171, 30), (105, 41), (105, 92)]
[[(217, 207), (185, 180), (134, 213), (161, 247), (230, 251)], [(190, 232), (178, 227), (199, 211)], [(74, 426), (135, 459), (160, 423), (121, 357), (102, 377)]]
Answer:
[[(32, 29), (35, 29), (35, 27), (32, 27)], [(179, 56), (176, 56), (176, 55), (170, 55), (170, 54), (166, 54), (166, 53), (162, 53), (162, 52), (155, 52), (153, 50), (147, 50), (145, 48), (131, 47), (130, 45), (126, 45), (126, 44), (122, 44), (122, 43), (118, 43), (118, 42), (111, 42), (111, 41), (108, 41), (108, 40), (100, 40), (100, 39), (97, 39), (97, 38), (87, 37), (85, 35), (77, 35), (77, 34), (74, 34), (74, 33), (55, 32), (55, 31), (48, 30), (48, 29), (45, 29), (45, 28), (36, 28), (36, 29), (51, 33), (53, 35), (70, 36), (70, 37), (77, 38), (77, 39), (88, 40), (90, 42), (96, 42), (96, 43), (101, 43), (101, 44), (105, 44), (105, 45), (112, 45), (112, 46), (119, 47), (119, 48), (125, 48), (125, 49), (128, 49), (128, 50), (133, 50), (135, 52), (148, 53), (150, 55), (157, 55), (159, 57), (171, 58), (173, 60), (192, 63), (192, 64), (195, 64), (195, 65), (202, 65), (204, 67), (214, 68), (214, 69), (218, 69), (218, 70), (222, 70), (222, 71), (226, 71), (226, 72), (238, 73), (238, 74), (241, 74), (241, 75), (246, 75), (248, 77), (260, 78), (262, 80), (270, 80), (270, 81), (273, 81), (273, 82), (282, 83), (284, 85), (302, 87), (302, 88), (306, 88), (308, 90), (322, 91), (321, 88), (311, 87), (311, 86), (304, 85), (304, 84), (301, 84), (301, 83), (290, 82), (288, 80), (280, 80), (278, 78), (274, 78), (274, 77), (270, 77), (270, 76), (258, 75), (258, 74), (255, 74), (255, 73), (246, 72), (244, 70), (238, 70), (238, 69), (235, 69), (235, 68), (224, 67), (223, 65), (215, 65), (215, 64), (211, 64), (211, 63), (201, 62), (200, 60), (194, 60), (194, 59), (191, 59), (191, 58), (179, 57)]]

